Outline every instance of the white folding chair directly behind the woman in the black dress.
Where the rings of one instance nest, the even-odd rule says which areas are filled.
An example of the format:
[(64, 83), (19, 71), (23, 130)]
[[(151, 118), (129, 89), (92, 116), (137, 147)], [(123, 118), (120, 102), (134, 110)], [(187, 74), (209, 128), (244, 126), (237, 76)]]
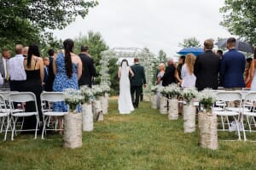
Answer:
[[(15, 112), (15, 107), (14, 107), (15, 102), (23, 103), (23, 102), (29, 102), (29, 101), (33, 101), (36, 111)], [(39, 116), (38, 116), (37, 98), (36, 98), (35, 94), (33, 94), (31, 92), (19, 92), (19, 93), (9, 94), (9, 105), (10, 105), (11, 116), (14, 119), (14, 125), (13, 125), (13, 129), (12, 129), (11, 139), (12, 140), (14, 139), (14, 134), (15, 134), (16, 131), (35, 131), (35, 138), (34, 139), (37, 139)], [(26, 117), (26, 116), (36, 116), (36, 121), (37, 121), (36, 127), (34, 129), (22, 129), (22, 128), (20, 128), (20, 130), (16, 130), (16, 122), (17, 122), (18, 118), (19, 117)]]

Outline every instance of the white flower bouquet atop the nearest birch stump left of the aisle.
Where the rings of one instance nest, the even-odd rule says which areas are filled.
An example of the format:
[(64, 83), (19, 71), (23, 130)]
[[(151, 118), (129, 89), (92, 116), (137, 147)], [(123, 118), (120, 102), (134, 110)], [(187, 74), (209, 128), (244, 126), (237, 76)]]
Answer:
[(84, 100), (84, 96), (80, 93), (80, 91), (74, 88), (64, 89), (64, 98), (66, 104), (69, 105), (69, 110), (71, 112), (75, 112), (77, 106)]

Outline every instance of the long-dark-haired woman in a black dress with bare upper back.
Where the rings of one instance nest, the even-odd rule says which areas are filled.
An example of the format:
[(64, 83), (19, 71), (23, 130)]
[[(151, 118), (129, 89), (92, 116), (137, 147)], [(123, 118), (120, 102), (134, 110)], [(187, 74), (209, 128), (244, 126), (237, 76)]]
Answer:
[[(44, 62), (40, 57), (39, 49), (36, 44), (31, 44), (29, 46), (27, 57), (24, 58), (23, 63), (26, 71), (24, 91), (32, 92), (36, 95), (39, 119), (40, 121), (43, 121), (40, 94), (42, 93), (42, 84), (44, 82)], [(26, 102), (26, 111), (36, 111), (35, 105), (32, 101)], [(26, 117), (23, 129), (32, 129), (36, 126), (36, 123), (37, 121), (35, 116)]]

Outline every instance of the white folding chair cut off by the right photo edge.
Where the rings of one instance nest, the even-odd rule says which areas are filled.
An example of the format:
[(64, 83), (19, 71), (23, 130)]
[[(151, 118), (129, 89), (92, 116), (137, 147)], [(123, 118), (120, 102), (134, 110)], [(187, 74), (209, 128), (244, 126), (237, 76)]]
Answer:
[[(256, 132), (256, 129), (255, 130), (252, 129), (252, 127), (256, 127), (256, 122), (255, 122), (256, 92), (255, 91), (248, 92), (245, 95), (245, 101), (252, 103), (252, 105), (250, 105), (250, 106), (252, 106), (252, 110), (251, 111), (247, 111), (247, 110), (242, 111), (241, 121), (242, 122), (246, 121), (246, 123), (243, 123), (243, 124), (246, 124), (248, 126), (248, 130), (245, 129), (245, 131), (247, 131), (249, 133)], [(244, 107), (246, 107), (246, 106), (247, 105), (244, 105)], [(246, 120), (243, 120), (244, 117), (246, 118)], [(244, 126), (244, 127), (247, 127), (247, 126)]]

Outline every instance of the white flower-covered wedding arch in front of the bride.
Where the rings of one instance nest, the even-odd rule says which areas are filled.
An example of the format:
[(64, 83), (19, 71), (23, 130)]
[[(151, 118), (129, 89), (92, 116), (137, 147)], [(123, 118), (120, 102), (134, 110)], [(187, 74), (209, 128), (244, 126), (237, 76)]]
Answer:
[(110, 76), (108, 74), (109, 68), (109, 60), (110, 59), (119, 59), (119, 58), (135, 58), (139, 59), (141, 65), (144, 66), (145, 75), (147, 79), (147, 88), (143, 89), (144, 96), (149, 96), (152, 80), (154, 78), (154, 62), (155, 56), (154, 54), (148, 52), (146, 49), (142, 48), (112, 48), (107, 51), (102, 52), (102, 60), (101, 63), (101, 84), (110, 86)]

